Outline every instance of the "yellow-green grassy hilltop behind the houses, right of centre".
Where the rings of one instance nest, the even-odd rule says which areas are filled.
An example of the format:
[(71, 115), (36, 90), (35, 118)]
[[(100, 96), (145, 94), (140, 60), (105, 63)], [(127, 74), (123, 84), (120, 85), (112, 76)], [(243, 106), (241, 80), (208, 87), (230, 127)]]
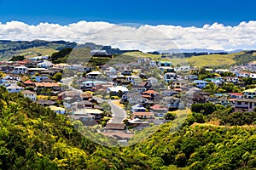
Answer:
[[(236, 63), (234, 57), (237, 54), (243, 54), (244, 52), (233, 53), (233, 54), (209, 54), (209, 55), (200, 55), (200, 56), (192, 56), (189, 58), (172, 58), (168, 59), (172, 62), (173, 65), (193, 65), (196, 67), (201, 66), (218, 66), (218, 65), (233, 65)], [(145, 57), (154, 59), (156, 61), (159, 60), (167, 60), (161, 59), (160, 54), (143, 54), (141, 52), (129, 52), (125, 53), (126, 55), (131, 55), (137, 58)]]

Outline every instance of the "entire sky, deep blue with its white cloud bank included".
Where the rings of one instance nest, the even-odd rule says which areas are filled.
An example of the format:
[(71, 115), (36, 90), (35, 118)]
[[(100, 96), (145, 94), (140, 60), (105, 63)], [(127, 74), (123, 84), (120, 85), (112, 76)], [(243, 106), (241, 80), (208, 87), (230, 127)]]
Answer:
[[(254, 0), (0, 0), (0, 39), (256, 49), (255, 7)], [(142, 25), (118, 25), (124, 23)]]

